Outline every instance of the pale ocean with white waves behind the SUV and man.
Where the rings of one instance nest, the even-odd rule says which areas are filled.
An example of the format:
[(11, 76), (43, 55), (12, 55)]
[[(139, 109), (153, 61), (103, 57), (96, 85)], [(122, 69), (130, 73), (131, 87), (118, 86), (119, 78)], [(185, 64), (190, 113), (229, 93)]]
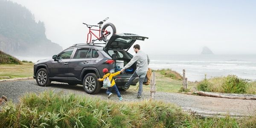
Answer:
[[(20, 60), (35, 62), (49, 57), (20, 57)], [(186, 70), (188, 81), (201, 81), (207, 78), (237, 75), (242, 79), (256, 80), (256, 55), (149, 55), (149, 67), (172, 69), (182, 74)]]

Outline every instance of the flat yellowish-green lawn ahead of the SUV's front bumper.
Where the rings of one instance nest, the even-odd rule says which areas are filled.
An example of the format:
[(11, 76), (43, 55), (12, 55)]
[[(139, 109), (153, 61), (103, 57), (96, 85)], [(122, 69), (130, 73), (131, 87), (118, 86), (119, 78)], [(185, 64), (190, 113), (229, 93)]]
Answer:
[(12, 79), (33, 76), (33, 63), (0, 64), (0, 79)]

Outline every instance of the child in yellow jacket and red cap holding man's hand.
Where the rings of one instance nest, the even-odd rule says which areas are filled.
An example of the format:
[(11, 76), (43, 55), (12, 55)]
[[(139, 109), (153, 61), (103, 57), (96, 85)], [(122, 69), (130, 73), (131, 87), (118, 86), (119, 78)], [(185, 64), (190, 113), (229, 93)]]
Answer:
[[(105, 78), (108, 77), (108, 79), (111, 81), (113, 76), (116, 76), (116, 75), (119, 75), (120, 74), (120, 71), (116, 72), (116, 73), (108, 73), (108, 69), (107, 68), (104, 68), (102, 70), (102, 72), (105, 74), (103, 76), (102, 79), (98, 79), (98, 81), (103, 81)], [(115, 90), (116, 91), (116, 94), (117, 96), (119, 97), (119, 100), (122, 100), (122, 96), (120, 95), (119, 93), (119, 90), (117, 89), (116, 87), (116, 83), (114, 80), (111, 81), (111, 87), (108, 87), (108, 90), (107, 90), (107, 94), (108, 94), (108, 99), (113, 95), (113, 93), (111, 93), (112, 90)]]

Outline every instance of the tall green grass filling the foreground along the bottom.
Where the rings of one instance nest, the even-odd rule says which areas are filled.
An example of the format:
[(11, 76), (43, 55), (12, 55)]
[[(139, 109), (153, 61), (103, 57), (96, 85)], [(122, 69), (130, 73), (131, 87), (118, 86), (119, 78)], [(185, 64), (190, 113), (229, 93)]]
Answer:
[(26, 93), (20, 103), (1, 106), (0, 127), (87, 128), (255, 128), (249, 118), (199, 118), (170, 103), (111, 102), (73, 93)]

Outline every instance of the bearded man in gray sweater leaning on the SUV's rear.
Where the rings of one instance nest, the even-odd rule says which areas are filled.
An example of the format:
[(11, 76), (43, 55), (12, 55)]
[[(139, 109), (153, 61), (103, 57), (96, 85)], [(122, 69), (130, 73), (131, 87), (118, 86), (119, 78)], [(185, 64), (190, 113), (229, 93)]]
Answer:
[(142, 91), (143, 91), (142, 85), (143, 85), (144, 78), (147, 75), (148, 64), (150, 62), (150, 59), (148, 58), (148, 55), (145, 54), (145, 52), (140, 50), (139, 44), (134, 45), (134, 52), (136, 52), (136, 54), (131, 59), (131, 61), (128, 64), (126, 64), (125, 67), (122, 68), (121, 72), (124, 71), (125, 69), (127, 69), (128, 67), (131, 67), (131, 65), (134, 64), (135, 62), (137, 63), (137, 69), (132, 74), (131, 78), (125, 84), (125, 86), (122, 87), (122, 89), (127, 90), (130, 87), (131, 82), (136, 77), (139, 77), (139, 91), (138, 91), (137, 98), (140, 99)]

